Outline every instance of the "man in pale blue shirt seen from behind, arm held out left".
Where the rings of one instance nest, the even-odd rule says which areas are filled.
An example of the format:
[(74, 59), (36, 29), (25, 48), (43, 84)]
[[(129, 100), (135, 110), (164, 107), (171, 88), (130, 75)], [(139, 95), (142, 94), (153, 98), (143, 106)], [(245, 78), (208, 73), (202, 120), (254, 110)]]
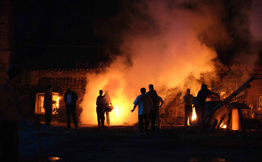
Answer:
[(131, 110), (135, 110), (136, 106), (138, 105), (138, 127), (139, 127), (139, 133), (141, 136), (143, 136), (143, 129), (145, 125), (145, 131), (146, 135), (149, 135), (148, 132), (148, 114), (150, 112), (150, 107), (153, 108), (153, 101), (149, 95), (145, 94), (145, 88), (140, 89), (141, 95), (136, 97), (136, 100), (134, 101), (134, 108)]

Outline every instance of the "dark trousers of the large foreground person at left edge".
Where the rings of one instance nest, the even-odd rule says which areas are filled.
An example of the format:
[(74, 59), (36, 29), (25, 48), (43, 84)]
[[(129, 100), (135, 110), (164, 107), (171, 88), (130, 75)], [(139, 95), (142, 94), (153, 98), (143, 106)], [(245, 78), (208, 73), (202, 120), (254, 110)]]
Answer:
[(1, 157), (0, 161), (19, 161), (18, 122), (2, 121), (0, 127)]

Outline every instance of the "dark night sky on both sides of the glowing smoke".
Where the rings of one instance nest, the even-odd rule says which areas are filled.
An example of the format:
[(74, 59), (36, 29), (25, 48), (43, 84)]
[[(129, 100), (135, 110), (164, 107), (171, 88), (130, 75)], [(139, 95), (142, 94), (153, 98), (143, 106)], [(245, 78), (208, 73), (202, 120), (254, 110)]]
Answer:
[[(12, 63), (22, 64), (28, 70), (103, 67), (112, 61), (113, 55), (121, 55), (118, 46), (121, 46), (123, 41), (122, 32), (128, 30), (130, 15), (151, 21), (135, 7), (137, 4), (146, 6), (147, 1), (13, 2)], [(201, 6), (214, 9), (221, 7), (216, 13), (221, 21), (220, 26), (210, 26), (206, 31), (198, 33), (197, 37), (201, 43), (217, 52), (218, 60), (223, 64), (241, 63), (243, 58), (247, 60), (254, 54), (260, 57), (255, 63), (261, 63), (262, 41), (259, 39), (254, 42), (249, 30), (251, 20), (248, 13), (252, 11), (252, 5), (254, 6), (252, 2), (255, 1), (167, 1), (170, 6), (176, 3), (177, 9), (196, 13), (200, 11)], [(253, 18), (256, 18), (256, 15)], [(259, 22), (258, 19), (255, 20)], [(152, 26), (154, 25), (153, 22)], [(212, 33), (217, 33), (218, 28), (224, 30), (230, 41), (213, 40)], [(143, 30), (146, 33), (147, 29)]]

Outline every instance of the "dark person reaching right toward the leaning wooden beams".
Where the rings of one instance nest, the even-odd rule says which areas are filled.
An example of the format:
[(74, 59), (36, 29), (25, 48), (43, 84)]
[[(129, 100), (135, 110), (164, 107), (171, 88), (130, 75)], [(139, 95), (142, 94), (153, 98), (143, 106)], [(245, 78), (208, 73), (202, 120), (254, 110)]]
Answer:
[(209, 95), (212, 95), (212, 97), (216, 97), (216, 95), (214, 95), (209, 89), (207, 89), (207, 86), (205, 84), (202, 84), (201, 90), (198, 91), (196, 100), (194, 101), (194, 107), (197, 115), (197, 127), (200, 133), (206, 132), (205, 102), (206, 98)]

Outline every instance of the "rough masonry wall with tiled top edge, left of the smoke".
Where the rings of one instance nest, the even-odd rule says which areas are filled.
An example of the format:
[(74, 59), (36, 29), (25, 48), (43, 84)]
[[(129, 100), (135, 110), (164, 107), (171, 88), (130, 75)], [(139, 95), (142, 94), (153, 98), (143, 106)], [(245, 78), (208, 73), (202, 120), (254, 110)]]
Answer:
[(87, 73), (98, 72), (100, 71), (85, 69), (29, 71), (24, 73), (23, 80), (19, 85), (19, 88), (21, 90), (21, 94), (30, 94), (32, 102), (30, 105), (32, 105), (33, 109), (36, 101), (36, 94), (46, 92), (46, 87), (50, 84), (53, 85), (52, 92), (59, 93), (59, 109), (63, 110), (60, 120), (61, 122), (66, 122), (66, 105), (63, 101), (66, 89), (70, 88), (72, 91), (75, 91), (78, 96), (78, 100), (76, 102), (76, 115), (79, 117), (82, 111), (79, 104), (83, 100), (85, 93)]

